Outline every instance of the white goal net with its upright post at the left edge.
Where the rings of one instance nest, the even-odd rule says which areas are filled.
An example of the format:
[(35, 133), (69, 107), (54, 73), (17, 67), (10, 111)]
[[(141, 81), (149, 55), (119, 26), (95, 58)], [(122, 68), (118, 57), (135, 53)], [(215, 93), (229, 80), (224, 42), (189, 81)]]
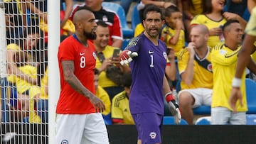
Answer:
[[(50, 23), (60, 23), (58, 15), (48, 22), (47, 0), (0, 0), (0, 78), (1, 78), (1, 138), (0, 143), (48, 143), (50, 59), (55, 60), (60, 27), (50, 32)], [(60, 6), (57, 2), (57, 8)], [(58, 8), (59, 9), (59, 8)], [(56, 9), (55, 11), (59, 11)], [(56, 24), (55, 24), (56, 25)], [(59, 24), (57, 24), (59, 26)], [(50, 45), (55, 47), (50, 53)], [(51, 48), (52, 48), (51, 47)], [(57, 60), (57, 59), (56, 59)], [(55, 67), (54, 71), (58, 71)], [(54, 75), (51, 77), (55, 77)], [(57, 82), (58, 78), (55, 80)], [(52, 84), (50, 84), (52, 83)], [(55, 85), (58, 87), (58, 84)], [(58, 89), (53, 87), (53, 89)], [(57, 93), (58, 94), (58, 93)], [(58, 95), (55, 95), (58, 97)], [(53, 102), (54, 104), (55, 102)], [(54, 108), (54, 107), (53, 107)], [(54, 118), (52, 118), (54, 119)], [(53, 133), (54, 135), (54, 133)]]

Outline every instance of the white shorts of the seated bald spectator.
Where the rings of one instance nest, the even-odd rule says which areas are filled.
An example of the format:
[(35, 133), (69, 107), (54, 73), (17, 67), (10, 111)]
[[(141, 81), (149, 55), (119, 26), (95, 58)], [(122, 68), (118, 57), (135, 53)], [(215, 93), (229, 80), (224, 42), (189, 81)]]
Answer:
[(178, 97), (182, 92), (190, 93), (195, 99), (195, 104), (193, 104), (193, 108), (196, 108), (201, 105), (210, 106), (212, 101), (213, 89), (207, 88), (197, 88), (197, 89), (183, 89), (178, 92)]

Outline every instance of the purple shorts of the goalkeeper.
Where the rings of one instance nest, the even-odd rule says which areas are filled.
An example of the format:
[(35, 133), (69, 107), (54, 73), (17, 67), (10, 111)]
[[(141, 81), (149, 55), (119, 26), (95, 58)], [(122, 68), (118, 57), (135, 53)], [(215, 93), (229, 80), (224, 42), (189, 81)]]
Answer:
[(161, 143), (162, 115), (157, 113), (132, 114), (137, 131), (138, 140), (142, 143)]

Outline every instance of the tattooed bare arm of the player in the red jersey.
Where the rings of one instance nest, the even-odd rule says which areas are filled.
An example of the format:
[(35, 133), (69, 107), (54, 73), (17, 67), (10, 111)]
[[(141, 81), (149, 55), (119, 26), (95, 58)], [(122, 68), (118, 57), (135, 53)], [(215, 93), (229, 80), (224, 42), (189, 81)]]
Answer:
[(75, 71), (75, 66), (74, 62), (72, 60), (63, 60), (61, 62), (61, 65), (63, 67), (63, 74), (64, 74), (64, 80), (68, 84), (70, 84), (70, 87), (73, 87), (76, 92), (79, 92), (83, 96), (86, 96), (88, 99), (91, 99), (94, 94), (90, 92), (88, 89), (86, 89), (78, 77), (75, 76), (74, 71)]

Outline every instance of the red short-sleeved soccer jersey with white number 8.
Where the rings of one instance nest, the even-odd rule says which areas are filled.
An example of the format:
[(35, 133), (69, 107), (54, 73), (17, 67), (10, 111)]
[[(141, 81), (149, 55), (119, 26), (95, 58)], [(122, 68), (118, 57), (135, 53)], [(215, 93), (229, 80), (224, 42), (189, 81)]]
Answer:
[(96, 63), (95, 47), (88, 42), (88, 46), (82, 45), (75, 35), (63, 40), (58, 50), (58, 62), (60, 67), (60, 97), (56, 113), (82, 114), (94, 113), (95, 108), (85, 96), (76, 92), (70, 84), (65, 82), (61, 61), (73, 60), (75, 65), (75, 76), (82, 85), (95, 94), (94, 70)]

